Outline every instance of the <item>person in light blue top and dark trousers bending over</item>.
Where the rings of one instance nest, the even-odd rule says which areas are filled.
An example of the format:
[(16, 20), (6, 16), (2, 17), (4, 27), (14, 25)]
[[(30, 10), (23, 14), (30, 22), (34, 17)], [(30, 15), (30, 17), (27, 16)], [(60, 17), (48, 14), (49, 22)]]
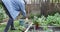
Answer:
[(15, 30), (13, 21), (22, 12), (23, 16), (26, 17), (25, 2), (24, 0), (2, 0), (5, 7), (6, 13), (9, 16), (9, 20), (4, 32), (8, 32), (9, 27), (11, 30)]

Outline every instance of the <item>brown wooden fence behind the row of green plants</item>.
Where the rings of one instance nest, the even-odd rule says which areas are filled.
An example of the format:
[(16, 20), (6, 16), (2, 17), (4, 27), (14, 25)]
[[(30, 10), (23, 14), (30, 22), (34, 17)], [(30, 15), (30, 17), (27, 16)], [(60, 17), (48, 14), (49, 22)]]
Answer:
[(47, 16), (55, 10), (60, 10), (60, 0), (30, 0), (30, 3), (26, 5), (26, 10), (28, 14), (38, 13)]

